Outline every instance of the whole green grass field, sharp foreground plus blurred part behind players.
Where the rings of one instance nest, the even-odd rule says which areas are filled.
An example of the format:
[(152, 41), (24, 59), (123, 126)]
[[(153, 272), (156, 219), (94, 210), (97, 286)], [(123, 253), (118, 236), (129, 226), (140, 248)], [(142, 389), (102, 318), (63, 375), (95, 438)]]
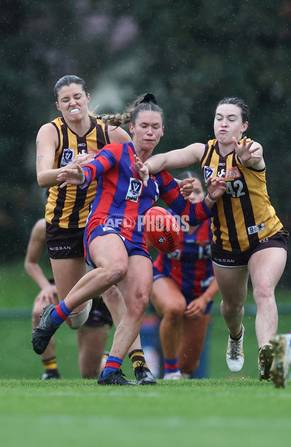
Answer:
[[(32, 351), (27, 316), (37, 287), (19, 264), (5, 266), (1, 281), (1, 445), (265, 447), (289, 442), (291, 381), (286, 389), (275, 389), (273, 383), (258, 380), (253, 311), (244, 317), (245, 363), (236, 375), (226, 365), (227, 331), (217, 297), (209, 334), (209, 379), (158, 380), (152, 387), (97, 386), (80, 378), (76, 336), (64, 325), (56, 333), (64, 379), (40, 381), (43, 367)], [(289, 290), (278, 288), (282, 306), (289, 296)], [(251, 295), (247, 304), (253, 304)], [(278, 330), (290, 331), (291, 315), (280, 309)], [(112, 333), (108, 347), (111, 340)], [(128, 358), (122, 368), (134, 379)]]

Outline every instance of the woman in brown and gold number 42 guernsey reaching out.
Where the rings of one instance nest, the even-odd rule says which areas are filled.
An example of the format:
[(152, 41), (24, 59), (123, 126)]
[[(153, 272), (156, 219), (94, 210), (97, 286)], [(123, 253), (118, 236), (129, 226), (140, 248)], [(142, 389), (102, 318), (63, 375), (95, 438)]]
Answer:
[(243, 305), (250, 276), (257, 304), (259, 379), (269, 381), (274, 357), (270, 339), (278, 324), (275, 287), (285, 268), (289, 235), (269, 201), (262, 146), (244, 136), (247, 127), (248, 107), (242, 99), (225, 98), (215, 111), (215, 139), (155, 155), (136, 168), (144, 177), (200, 163), (205, 182), (225, 177), (226, 194), (213, 207), (211, 259), (229, 331), (226, 362), (233, 372), (242, 369)]

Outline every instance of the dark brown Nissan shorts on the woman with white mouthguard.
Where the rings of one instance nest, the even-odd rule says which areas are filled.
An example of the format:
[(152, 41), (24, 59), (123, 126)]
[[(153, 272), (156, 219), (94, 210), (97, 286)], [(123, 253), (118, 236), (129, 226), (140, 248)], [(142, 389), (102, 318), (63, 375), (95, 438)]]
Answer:
[(84, 228), (61, 228), (47, 222), (46, 243), (52, 259), (84, 257)]

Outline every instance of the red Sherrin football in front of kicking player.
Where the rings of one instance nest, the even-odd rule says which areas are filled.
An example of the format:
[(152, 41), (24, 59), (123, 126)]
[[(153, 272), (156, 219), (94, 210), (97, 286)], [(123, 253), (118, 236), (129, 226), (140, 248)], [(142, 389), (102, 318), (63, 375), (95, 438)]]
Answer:
[(171, 213), (160, 206), (150, 208), (144, 219), (146, 236), (157, 250), (172, 253), (180, 242), (180, 228)]

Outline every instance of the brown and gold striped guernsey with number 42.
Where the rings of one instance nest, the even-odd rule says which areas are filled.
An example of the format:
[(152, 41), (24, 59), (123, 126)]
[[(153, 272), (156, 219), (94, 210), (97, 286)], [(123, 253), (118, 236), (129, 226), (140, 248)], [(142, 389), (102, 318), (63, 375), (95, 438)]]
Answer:
[(226, 179), (226, 192), (213, 207), (213, 242), (244, 251), (282, 229), (267, 193), (265, 169), (242, 166), (235, 150), (223, 157), (216, 139), (205, 145), (200, 164), (205, 182), (211, 176)]

